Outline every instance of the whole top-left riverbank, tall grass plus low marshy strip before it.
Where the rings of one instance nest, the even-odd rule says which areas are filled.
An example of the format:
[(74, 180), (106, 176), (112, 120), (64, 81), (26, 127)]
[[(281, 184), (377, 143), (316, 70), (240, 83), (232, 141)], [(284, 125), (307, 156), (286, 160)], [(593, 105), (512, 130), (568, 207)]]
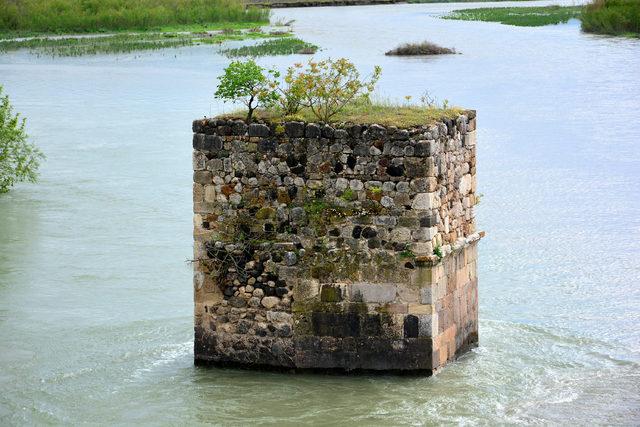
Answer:
[(240, 0), (0, 0), (0, 53), (80, 56), (282, 38)]

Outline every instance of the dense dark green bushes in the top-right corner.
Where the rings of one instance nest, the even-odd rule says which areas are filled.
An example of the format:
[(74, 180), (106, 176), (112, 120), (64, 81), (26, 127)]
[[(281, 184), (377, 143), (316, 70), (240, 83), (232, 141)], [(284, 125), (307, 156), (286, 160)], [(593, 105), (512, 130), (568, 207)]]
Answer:
[(595, 0), (584, 8), (581, 19), (588, 33), (640, 37), (639, 0)]

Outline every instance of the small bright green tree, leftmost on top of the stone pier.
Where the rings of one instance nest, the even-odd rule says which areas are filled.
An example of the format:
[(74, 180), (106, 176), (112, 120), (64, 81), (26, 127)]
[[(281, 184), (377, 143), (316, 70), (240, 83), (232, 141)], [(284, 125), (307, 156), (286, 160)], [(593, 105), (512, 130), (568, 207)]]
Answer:
[(248, 109), (247, 122), (250, 122), (257, 107), (267, 107), (278, 99), (276, 83), (268, 78), (269, 74), (277, 75), (251, 59), (234, 61), (219, 77), (220, 84), (215, 96), (226, 101), (242, 102)]

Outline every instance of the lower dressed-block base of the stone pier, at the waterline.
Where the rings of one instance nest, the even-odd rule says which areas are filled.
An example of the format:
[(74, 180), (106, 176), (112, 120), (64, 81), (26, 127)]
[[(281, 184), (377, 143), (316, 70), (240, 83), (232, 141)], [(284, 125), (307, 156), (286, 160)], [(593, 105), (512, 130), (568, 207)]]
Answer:
[[(412, 269), (416, 287), (322, 284), (290, 311), (206, 306), (198, 365), (431, 375), (478, 344), (477, 240)], [(416, 296), (415, 303), (403, 302)], [(307, 297), (307, 298), (305, 298)], [(224, 301), (224, 300), (223, 300)], [(206, 321), (205, 321), (206, 319)]]

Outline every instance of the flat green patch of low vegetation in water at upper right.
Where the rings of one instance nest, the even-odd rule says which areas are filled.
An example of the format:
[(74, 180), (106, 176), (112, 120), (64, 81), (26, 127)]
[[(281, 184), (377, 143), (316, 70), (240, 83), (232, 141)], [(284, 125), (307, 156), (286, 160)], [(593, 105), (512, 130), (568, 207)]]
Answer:
[(500, 22), (521, 27), (538, 27), (560, 24), (572, 18), (579, 18), (582, 7), (579, 6), (543, 6), (543, 7), (491, 7), (480, 9), (454, 10), (444, 19), (463, 21)]

